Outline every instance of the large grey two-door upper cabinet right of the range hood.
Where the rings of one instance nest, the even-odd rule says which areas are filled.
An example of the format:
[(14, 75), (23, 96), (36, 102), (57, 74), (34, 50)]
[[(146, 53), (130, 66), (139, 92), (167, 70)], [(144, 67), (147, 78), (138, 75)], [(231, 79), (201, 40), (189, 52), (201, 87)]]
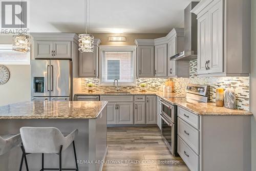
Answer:
[(250, 73), (250, 0), (202, 0), (198, 19), (198, 74)]

